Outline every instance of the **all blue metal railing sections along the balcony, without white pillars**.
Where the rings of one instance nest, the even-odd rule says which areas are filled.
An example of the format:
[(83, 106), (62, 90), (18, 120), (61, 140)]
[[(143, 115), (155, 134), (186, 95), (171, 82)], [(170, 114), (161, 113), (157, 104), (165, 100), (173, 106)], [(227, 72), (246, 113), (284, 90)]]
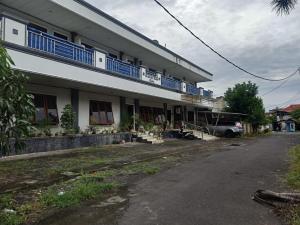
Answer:
[[(47, 52), (53, 55), (71, 59), (80, 63), (95, 66), (95, 51), (86, 49), (70, 41), (55, 37), (53, 35), (41, 32), (28, 27), (27, 45), (30, 48)], [(122, 76), (140, 80), (140, 67), (131, 65), (121, 60), (106, 56), (106, 70), (118, 73)], [(147, 75), (153, 78), (157, 77), (155, 72), (147, 70)], [(161, 86), (170, 90), (181, 92), (181, 81), (175, 78), (161, 75)], [(187, 84), (187, 94), (199, 95), (200, 90), (192, 84)], [(211, 92), (203, 90), (204, 97), (211, 97)]]

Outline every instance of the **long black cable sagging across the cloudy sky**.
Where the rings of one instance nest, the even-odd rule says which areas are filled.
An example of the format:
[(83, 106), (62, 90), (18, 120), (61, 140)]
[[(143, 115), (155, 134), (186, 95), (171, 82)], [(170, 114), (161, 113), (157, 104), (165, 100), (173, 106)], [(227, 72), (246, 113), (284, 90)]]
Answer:
[[(220, 58), (222, 58), (223, 60), (225, 60), (226, 62), (228, 62), (229, 64), (233, 65), (234, 67), (236, 67), (237, 69), (262, 80), (267, 80), (267, 81), (283, 81), (283, 80), (287, 80), (291, 77), (287, 76), (284, 78), (280, 78), (280, 79), (270, 79), (270, 78), (265, 78), (259, 75), (256, 75), (254, 73), (249, 72), (248, 70), (242, 68), (241, 66), (237, 65), (236, 63), (234, 63), (233, 61), (229, 60), (228, 58), (226, 58), (225, 56), (223, 56), (221, 53), (219, 53), (217, 50), (215, 50), (213, 47), (211, 47), (209, 44), (207, 44), (205, 41), (203, 41), (200, 37), (198, 37), (193, 31), (191, 31), (187, 26), (185, 26), (176, 16), (174, 16), (165, 6), (163, 6), (158, 0), (153, 0), (156, 4), (158, 4), (167, 14), (169, 14), (174, 20), (177, 21), (177, 23), (179, 23), (180, 26), (182, 26), (185, 30), (187, 30), (192, 36), (194, 36), (196, 39), (198, 39), (203, 45), (205, 45), (207, 48), (209, 48), (212, 52), (214, 52), (215, 54), (217, 54)], [(299, 70), (299, 69), (297, 69)]]

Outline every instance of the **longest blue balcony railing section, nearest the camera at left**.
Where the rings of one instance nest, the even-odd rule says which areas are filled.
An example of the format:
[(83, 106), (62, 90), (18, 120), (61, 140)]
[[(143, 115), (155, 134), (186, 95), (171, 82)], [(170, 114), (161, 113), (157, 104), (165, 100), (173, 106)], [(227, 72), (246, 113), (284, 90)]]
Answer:
[(72, 42), (54, 37), (33, 28), (28, 28), (28, 47), (53, 55), (93, 65), (94, 51)]

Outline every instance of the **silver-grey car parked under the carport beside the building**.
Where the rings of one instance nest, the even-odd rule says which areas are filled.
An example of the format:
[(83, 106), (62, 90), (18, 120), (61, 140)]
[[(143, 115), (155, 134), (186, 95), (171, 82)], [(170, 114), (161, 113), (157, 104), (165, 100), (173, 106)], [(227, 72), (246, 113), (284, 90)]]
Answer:
[(243, 134), (243, 126), (240, 122), (219, 125), (208, 125), (205, 132), (221, 137), (236, 137)]

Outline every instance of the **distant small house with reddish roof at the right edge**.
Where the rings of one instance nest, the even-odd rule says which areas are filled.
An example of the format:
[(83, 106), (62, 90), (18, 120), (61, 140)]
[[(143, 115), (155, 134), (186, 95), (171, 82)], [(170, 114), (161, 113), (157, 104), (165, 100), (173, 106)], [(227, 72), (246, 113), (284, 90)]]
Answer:
[(291, 117), (291, 113), (297, 109), (300, 109), (300, 104), (270, 110), (269, 114), (276, 117), (273, 129), (278, 131), (295, 132), (296, 121)]

